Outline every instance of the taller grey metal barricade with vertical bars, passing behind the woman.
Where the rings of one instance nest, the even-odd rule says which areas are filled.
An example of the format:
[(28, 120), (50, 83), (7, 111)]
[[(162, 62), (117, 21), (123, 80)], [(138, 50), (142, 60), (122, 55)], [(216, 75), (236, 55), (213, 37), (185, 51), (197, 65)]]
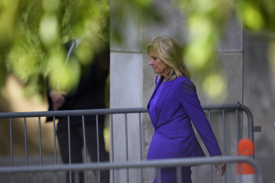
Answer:
[[(249, 108), (242, 104), (218, 104), (218, 105), (203, 105), (203, 110), (208, 111), (208, 119), (211, 123), (211, 111), (212, 110), (221, 110), (222, 111), (222, 118), (223, 118), (223, 155), (225, 154), (225, 110), (235, 110), (236, 111), (236, 130), (237, 130), (237, 140), (239, 141), (239, 121), (238, 121), (238, 111), (244, 111), (247, 114), (247, 124), (248, 124), (248, 138), (254, 141), (254, 134), (253, 134), (253, 117), (252, 113), (250, 112)], [(113, 142), (113, 115), (114, 114), (125, 114), (125, 151), (126, 151), (126, 161), (128, 161), (128, 140), (127, 140), (127, 114), (137, 113), (139, 116), (139, 144), (140, 144), (140, 161), (142, 161), (142, 129), (141, 129), (141, 113), (147, 113), (147, 108), (118, 108), (118, 109), (91, 109), (91, 110), (66, 110), (66, 111), (44, 111), (44, 112), (12, 112), (12, 113), (0, 113), (0, 118), (9, 118), (9, 128), (10, 128), (10, 147), (11, 147), (11, 167), (13, 167), (13, 141), (12, 141), (12, 119), (13, 118), (24, 118), (24, 140), (25, 140), (25, 165), (26, 168), (28, 167), (28, 150), (27, 150), (27, 125), (26, 125), (26, 118), (38, 118), (39, 124), (39, 149), (40, 149), (40, 166), (42, 166), (42, 142), (41, 142), (41, 117), (53, 117), (53, 131), (54, 131), (54, 159), (55, 165), (57, 165), (57, 153), (56, 153), (56, 124), (55, 124), (55, 117), (56, 116), (68, 116), (68, 132), (70, 132), (70, 120), (69, 116), (82, 116), (82, 125), (83, 125), (83, 134), (85, 134), (85, 122), (84, 116), (86, 115), (96, 115), (96, 125), (98, 127), (98, 115), (110, 115), (110, 148), (111, 148), (111, 162), (114, 162), (114, 142)], [(197, 132), (196, 132), (197, 134)], [(97, 128), (97, 145), (98, 145), (98, 128)], [(68, 139), (69, 144), (70, 140)], [(87, 164), (87, 152), (86, 152), (86, 143), (84, 141), (84, 160), (85, 164)], [(99, 157), (99, 148), (97, 148), (97, 155)], [(70, 153), (69, 153), (70, 159)], [(98, 159), (99, 163), (99, 159)], [(198, 169), (197, 169), (198, 172)], [(211, 169), (212, 174), (212, 169)], [(140, 170), (141, 182), (143, 182), (143, 172), (142, 168)], [(127, 169), (126, 172), (127, 182), (129, 182), (129, 172)], [(114, 181), (114, 170), (112, 170), (112, 179)], [(26, 180), (28, 182), (28, 173), (26, 173)], [(12, 178), (13, 182), (13, 178)], [(40, 176), (40, 182), (42, 181), (42, 173)], [(55, 178), (55, 182), (57, 182), (57, 174)], [(85, 182), (87, 182), (87, 172), (85, 172)], [(198, 182), (198, 176), (197, 176)], [(211, 182), (213, 182), (211, 176)], [(226, 174), (225, 174), (225, 182), (226, 182)]]

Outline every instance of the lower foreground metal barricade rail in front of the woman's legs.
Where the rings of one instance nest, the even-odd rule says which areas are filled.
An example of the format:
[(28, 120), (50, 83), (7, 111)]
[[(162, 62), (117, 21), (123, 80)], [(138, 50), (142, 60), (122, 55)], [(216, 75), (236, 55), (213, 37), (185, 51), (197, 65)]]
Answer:
[[(256, 174), (257, 183), (262, 183), (262, 171), (260, 166), (252, 159), (244, 156), (225, 156), (225, 157), (196, 157), (196, 158), (171, 158), (163, 160), (150, 160), (138, 162), (113, 162), (113, 163), (87, 163), (87, 164), (70, 164), (70, 165), (44, 165), (28, 167), (11, 167), (0, 168), (0, 173), (36, 173), (36, 172), (64, 172), (64, 171), (83, 171), (83, 170), (111, 170), (121, 168), (145, 168), (145, 167), (176, 167), (177, 183), (182, 182), (181, 167), (191, 166), (194, 164), (215, 164), (215, 163), (241, 163), (250, 164)], [(160, 180), (160, 178), (159, 178)], [(78, 182), (78, 180), (76, 180)], [(158, 181), (161, 183), (161, 181)]]

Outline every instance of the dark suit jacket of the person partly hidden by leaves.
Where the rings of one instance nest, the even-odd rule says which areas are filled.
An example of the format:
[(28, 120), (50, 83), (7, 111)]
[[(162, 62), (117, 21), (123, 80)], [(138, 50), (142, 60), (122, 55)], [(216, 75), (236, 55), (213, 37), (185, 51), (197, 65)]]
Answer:
[[(69, 49), (71, 42), (66, 43), (65, 47)], [(70, 56), (73, 56), (72, 52)], [(87, 66), (82, 66), (81, 77), (78, 87), (69, 92), (65, 97), (65, 103), (59, 110), (81, 110), (81, 109), (102, 109), (104, 105), (105, 80), (109, 74), (110, 53), (109, 49), (103, 50), (95, 55), (94, 59)], [(47, 81), (47, 96), (49, 111), (53, 110), (52, 100), (49, 96), (52, 89)], [(59, 118), (59, 117), (56, 117)], [(52, 117), (47, 117), (46, 122), (52, 121)], [(95, 122), (95, 116), (85, 116), (85, 122)], [(81, 124), (81, 116), (71, 116), (71, 125)]]

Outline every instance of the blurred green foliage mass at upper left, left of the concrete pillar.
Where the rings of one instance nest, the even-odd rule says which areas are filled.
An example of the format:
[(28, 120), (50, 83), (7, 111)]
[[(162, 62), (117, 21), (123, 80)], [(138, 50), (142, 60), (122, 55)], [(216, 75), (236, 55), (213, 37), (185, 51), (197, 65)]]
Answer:
[[(70, 90), (78, 83), (80, 66), (72, 57), (65, 67), (62, 45), (94, 37), (109, 43), (109, 22), (109, 0), (1, 0), (0, 85), (13, 73), (25, 86), (24, 96), (42, 96), (49, 75), (52, 86), (60, 78), (60, 89)], [(82, 42), (76, 55), (87, 64), (99, 44)]]

